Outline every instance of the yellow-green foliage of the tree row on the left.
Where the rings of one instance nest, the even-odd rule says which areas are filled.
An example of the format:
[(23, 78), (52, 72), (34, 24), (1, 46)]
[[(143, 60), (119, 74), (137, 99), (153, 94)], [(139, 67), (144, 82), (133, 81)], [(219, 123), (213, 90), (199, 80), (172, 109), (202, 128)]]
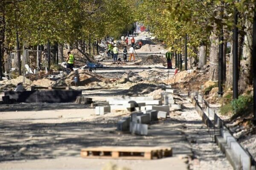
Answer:
[[(1, 0), (0, 68), (4, 54), (23, 46), (49, 42), (62, 48), (64, 43), (83, 45), (107, 34), (119, 37), (134, 22), (134, 5), (129, 0)], [(20, 68), (19, 52), (18, 64)]]

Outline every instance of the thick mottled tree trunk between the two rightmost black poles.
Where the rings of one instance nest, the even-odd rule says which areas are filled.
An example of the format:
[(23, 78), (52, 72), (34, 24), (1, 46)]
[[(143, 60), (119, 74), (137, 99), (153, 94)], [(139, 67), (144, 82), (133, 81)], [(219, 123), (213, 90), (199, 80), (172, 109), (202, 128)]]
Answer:
[(253, 84), (253, 59), (252, 59), (252, 44), (253, 44), (253, 25), (249, 20), (245, 21), (243, 58), (241, 60), (241, 72), (239, 76), (239, 91), (242, 93), (247, 88), (247, 85)]

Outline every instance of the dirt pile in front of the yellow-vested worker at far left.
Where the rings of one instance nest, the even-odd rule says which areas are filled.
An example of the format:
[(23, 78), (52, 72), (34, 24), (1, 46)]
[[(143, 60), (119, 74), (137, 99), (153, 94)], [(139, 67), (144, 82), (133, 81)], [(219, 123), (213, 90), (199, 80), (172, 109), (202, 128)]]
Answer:
[(78, 69), (76, 71), (72, 71), (69, 75), (64, 77), (64, 82), (66, 85), (75, 85), (75, 77), (77, 77), (78, 82), (76, 83), (77, 86), (84, 86), (91, 82), (108, 82), (109, 79), (106, 79), (98, 74), (92, 73), (90, 71), (84, 71)]

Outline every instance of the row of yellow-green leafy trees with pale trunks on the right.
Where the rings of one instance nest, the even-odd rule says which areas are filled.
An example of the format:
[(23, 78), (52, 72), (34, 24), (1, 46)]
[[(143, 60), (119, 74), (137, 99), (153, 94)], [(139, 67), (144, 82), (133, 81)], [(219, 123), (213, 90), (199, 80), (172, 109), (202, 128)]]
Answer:
[[(145, 12), (137, 19), (149, 26), (177, 54), (185, 54), (184, 44), (188, 39), (189, 57), (199, 61), (199, 67), (205, 65), (205, 58), (209, 57), (210, 78), (218, 81), (221, 78), (218, 72), (221, 71), (224, 80), (221, 86), (225, 85), (227, 89), (233, 85), (233, 29), (237, 28), (237, 65), (239, 91), (242, 93), (253, 83), (255, 4), (256, 0), (143, 0), (139, 8)], [(232, 45), (230, 60), (226, 62), (227, 42)]]

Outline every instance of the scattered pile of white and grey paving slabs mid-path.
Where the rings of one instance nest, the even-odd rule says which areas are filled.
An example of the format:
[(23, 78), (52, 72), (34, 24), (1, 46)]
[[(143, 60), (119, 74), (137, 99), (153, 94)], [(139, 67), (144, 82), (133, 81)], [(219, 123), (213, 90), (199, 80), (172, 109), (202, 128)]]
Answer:
[(130, 111), (128, 117), (122, 117), (117, 122), (117, 130), (130, 131), (132, 134), (148, 135), (148, 125), (158, 119), (166, 119), (170, 108), (181, 110), (181, 105), (175, 104), (176, 89), (166, 86), (166, 92), (161, 94), (162, 99), (153, 99), (153, 96), (124, 96), (109, 98), (108, 106), (96, 106), (96, 115), (104, 115), (112, 111)]

